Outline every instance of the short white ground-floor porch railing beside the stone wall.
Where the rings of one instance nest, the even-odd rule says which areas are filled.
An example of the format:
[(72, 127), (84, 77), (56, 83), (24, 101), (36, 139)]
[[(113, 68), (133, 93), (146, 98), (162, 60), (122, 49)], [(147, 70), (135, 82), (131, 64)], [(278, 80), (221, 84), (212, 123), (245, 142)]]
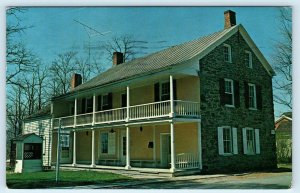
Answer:
[(189, 169), (199, 167), (199, 156), (195, 153), (180, 153), (176, 155), (176, 168)]

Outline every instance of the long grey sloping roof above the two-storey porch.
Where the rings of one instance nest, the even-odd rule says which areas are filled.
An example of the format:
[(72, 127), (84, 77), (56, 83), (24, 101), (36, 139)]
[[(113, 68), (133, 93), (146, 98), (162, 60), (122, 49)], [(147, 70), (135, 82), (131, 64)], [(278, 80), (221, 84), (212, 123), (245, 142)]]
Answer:
[(86, 83), (77, 86), (72, 92), (105, 85), (187, 61), (204, 51), (209, 45), (235, 27), (238, 27), (238, 25), (190, 42), (172, 46), (145, 57), (113, 66)]

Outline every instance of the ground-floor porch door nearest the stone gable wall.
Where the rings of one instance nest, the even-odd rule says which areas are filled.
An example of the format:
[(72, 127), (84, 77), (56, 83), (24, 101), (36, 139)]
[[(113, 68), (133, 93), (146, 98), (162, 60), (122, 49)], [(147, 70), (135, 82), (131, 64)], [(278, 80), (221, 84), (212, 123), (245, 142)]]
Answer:
[(164, 133), (160, 135), (160, 159), (162, 168), (170, 168), (171, 162), (171, 140), (170, 134)]

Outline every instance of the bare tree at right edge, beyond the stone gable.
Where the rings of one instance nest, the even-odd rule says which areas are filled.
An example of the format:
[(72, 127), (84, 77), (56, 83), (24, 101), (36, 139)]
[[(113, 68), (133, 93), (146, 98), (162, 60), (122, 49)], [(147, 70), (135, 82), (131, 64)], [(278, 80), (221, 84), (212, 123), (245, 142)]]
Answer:
[(289, 8), (280, 9), (281, 39), (276, 41), (274, 69), (277, 73), (274, 86), (275, 102), (292, 109), (292, 13)]

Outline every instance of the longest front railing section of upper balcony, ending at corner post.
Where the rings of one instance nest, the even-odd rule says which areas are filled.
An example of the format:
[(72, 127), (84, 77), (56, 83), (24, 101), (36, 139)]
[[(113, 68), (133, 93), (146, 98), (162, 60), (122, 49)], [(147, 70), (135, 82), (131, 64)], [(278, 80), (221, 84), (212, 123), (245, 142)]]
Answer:
[(170, 101), (130, 106), (129, 119), (145, 119), (169, 115)]

